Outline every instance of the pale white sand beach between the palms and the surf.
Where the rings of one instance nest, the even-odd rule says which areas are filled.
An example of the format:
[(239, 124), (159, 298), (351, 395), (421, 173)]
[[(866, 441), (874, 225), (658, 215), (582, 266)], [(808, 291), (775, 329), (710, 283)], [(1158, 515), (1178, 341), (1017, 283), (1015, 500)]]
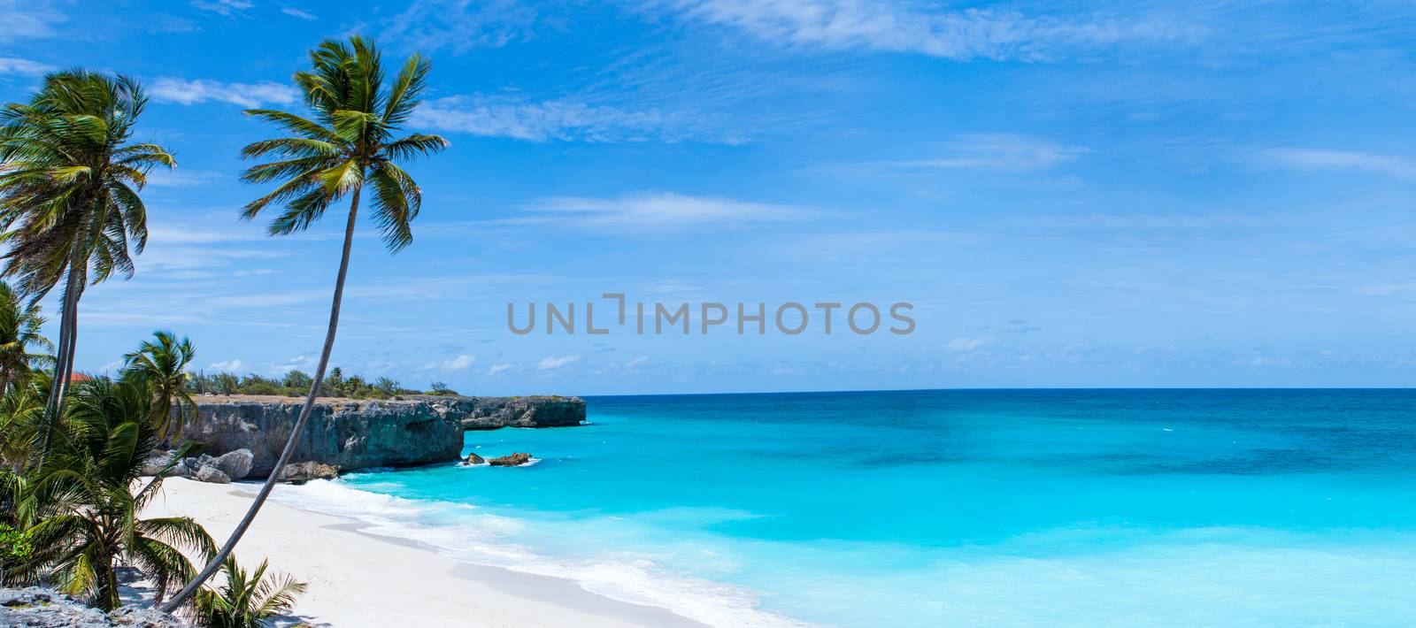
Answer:
[[(170, 478), (143, 515), (191, 516), (219, 543), (255, 491)], [(364, 528), (269, 501), (236, 546), (236, 559), (246, 567), (270, 559), (272, 570), (309, 583), (295, 615), (316, 627), (704, 627), (663, 608), (589, 593), (572, 580), (462, 563)]]

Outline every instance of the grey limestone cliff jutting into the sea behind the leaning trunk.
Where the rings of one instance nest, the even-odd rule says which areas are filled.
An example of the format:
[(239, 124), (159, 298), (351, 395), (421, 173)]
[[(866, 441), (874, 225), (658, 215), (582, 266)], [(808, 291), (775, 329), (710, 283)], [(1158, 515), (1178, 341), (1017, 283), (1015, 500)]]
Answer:
[[(181, 441), (211, 455), (246, 448), (251, 477), (270, 474), (303, 399), (261, 395), (197, 397), (197, 419)], [(399, 400), (317, 400), (296, 441), (292, 463), (317, 461), (340, 470), (399, 467), (457, 460), (463, 430), (576, 426), (585, 402), (576, 397), (411, 396)]]

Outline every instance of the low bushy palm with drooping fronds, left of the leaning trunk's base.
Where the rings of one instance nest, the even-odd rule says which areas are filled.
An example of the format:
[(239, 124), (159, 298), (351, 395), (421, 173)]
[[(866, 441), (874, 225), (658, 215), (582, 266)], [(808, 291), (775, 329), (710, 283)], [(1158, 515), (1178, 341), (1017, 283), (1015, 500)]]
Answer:
[(163, 482), (159, 474), (132, 491), (157, 446), (152, 413), (153, 395), (140, 380), (101, 378), (78, 386), (50, 458), (30, 478), (21, 516), (35, 522), (28, 528), (34, 552), (14, 577), (44, 576), (64, 593), (112, 610), (119, 605), (119, 562), (152, 577), (161, 598), (197, 573), (181, 550), (215, 552), (191, 518), (139, 518)]

